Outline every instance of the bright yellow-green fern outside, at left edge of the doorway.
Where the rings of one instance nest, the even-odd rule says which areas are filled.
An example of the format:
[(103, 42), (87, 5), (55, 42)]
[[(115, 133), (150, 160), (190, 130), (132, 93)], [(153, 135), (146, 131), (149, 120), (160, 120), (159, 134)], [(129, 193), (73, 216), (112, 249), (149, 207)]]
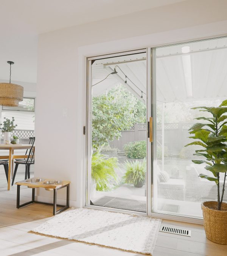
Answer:
[(114, 168), (118, 166), (116, 157), (106, 158), (100, 151), (92, 155), (92, 179), (97, 191), (111, 190), (118, 184), (118, 176)]

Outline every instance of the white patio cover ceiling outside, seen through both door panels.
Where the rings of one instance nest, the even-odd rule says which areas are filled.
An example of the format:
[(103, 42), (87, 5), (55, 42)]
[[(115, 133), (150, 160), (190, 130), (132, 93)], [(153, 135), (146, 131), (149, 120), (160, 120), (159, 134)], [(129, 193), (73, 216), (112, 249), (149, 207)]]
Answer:
[[(182, 53), (182, 47), (190, 52)], [(227, 38), (179, 44), (156, 49), (157, 101), (194, 101), (227, 97)], [(115, 57), (96, 60), (92, 65), (92, 84), (101, 81), (113, 72), (116, 65), (140, 88), (129, 80), (124, 83), (124, 74), (110, 75), (93, 86), (93, 96), (100, 95), (118, 83), (140, 98), (146, 92), (145, 53), (130, 57)], [(144, 97), (146, 99), (146, 96)]]

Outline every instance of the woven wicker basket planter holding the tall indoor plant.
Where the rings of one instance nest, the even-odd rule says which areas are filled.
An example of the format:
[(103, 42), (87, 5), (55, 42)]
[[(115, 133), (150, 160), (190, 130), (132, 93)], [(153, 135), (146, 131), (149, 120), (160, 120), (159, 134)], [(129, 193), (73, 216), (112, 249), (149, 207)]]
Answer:
[(222, 203), (217, 210), (218, 202), (206, 201), (201, 204), (204, 217), (204, 228), (209, 240), (222, 245), (227, 244), (227, 203)]

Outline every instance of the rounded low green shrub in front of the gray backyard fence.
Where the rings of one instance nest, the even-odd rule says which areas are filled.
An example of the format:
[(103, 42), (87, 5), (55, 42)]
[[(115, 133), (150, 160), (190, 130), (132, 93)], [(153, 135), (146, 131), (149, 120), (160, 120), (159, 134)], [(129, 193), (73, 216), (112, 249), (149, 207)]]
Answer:
[(124, 151), (128, 158), (144, 159), (146, 157), (146, 140), (129, 142), (124, 145)]

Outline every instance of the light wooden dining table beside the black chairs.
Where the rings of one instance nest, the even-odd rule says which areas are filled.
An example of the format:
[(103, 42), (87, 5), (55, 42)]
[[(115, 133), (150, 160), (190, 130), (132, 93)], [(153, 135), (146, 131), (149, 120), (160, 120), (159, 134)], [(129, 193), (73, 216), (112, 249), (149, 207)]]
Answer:
[[(30, 149), (32, 147), (32, 144), (0, 144), (0, 150), (8, 150), (9, 155), (1, 155), (0, 154), (0, 160), (1, 159), (9, 159), (9, 170), (8, 170), (8, 187), (7, 189), (10, 190), (10, 183), (11, 183), (11, 177), (13, 176), (13, 164), (14, 159), (27, 159), (28, 153), (22, 154), (22, 155), (14, 155), (14, 150), (19, 149)], [(33, 145), (33, 150), (35, 149), (35, 146)]]

